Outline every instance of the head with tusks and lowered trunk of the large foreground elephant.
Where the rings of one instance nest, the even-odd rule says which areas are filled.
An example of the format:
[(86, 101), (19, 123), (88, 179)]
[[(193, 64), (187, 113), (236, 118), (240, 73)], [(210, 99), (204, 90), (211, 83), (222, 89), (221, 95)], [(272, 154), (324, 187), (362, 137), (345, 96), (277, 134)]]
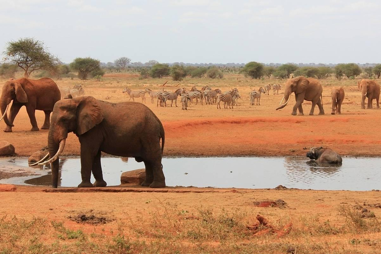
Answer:
[(50, 158), (43, 165), (52, 163), (53, 188), (58, 186), (59, 157), (64, 150), (67, 133), (80, 136), (103, 121), (101, 108), (94, 97), (84, 96), (60, 100), (54, 105), (48, 135)]

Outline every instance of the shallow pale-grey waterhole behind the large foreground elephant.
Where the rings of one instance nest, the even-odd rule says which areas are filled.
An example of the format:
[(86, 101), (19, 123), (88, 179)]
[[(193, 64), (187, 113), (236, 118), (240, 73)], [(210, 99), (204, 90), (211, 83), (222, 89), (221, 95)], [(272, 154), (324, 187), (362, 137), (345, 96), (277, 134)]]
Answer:
[[(1, 162), (0, 162), (1, 163)], [(18, 166), (27, 166), (26, 159), (16, 159)], [(63, 158), (61, 186), (80, 183), (80, 159)], [(321, 166), (301, 157), (226, 157), (164, 158), (164, 174), (168, 186), (216, 188), (287, 188), (314, 190), (369, 191), (381, 189), (381, 158), (343, 158), (341, 166)], [(104, 179), (109, 186), (119, 185), (122, 172), (144, 168), (133, 158), (102, 158)], [(42, 177), (26, 180), (7, 179), (1, 183), (51, 185), (49, 168)], [(31, 178), (31, 177), (29, 177)], [(94, 179), (92, 179), (94, 181)]]

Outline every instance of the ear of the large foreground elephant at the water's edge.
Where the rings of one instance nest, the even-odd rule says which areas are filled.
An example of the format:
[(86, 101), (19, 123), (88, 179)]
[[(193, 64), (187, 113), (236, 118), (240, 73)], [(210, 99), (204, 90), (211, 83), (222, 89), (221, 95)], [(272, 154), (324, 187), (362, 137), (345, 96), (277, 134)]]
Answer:
[(77, 106), (77, 129), (75, 133), (82, 135), (103, 121), (99, 102), (91, 96), (81, 97)]

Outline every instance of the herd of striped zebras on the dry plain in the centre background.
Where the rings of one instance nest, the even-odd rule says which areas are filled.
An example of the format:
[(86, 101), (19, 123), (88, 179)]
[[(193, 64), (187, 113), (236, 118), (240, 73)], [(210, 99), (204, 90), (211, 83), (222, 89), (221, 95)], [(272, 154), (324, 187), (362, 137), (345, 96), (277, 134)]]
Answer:
[[(262, 93), (269, 95), (269, 91), (273, 90), (273, 94), (279, 94), (279, 90), (281, 86), (278, 84), (273, 85), (264, 85), (260, 87), (258, 91), (251, 91), (250, 95), (250, 105), (254, 105), (256, 99), (256, 105), (260, 105), (260, 96)], [(193, 103), (195, 101), (195, 105), (198, 102), (201, 105), (211, 105), (216, 104), (217, 109), (221, 109), (221, 102), (224, 103), (224, 108), (229, 109), (233, 108), (234, 105), (237, 105), (237, 99), (241, 98), (238, 89), (233, 88), (229, 91), (222, 93), (221, 89), (216, 88), (212, 89), (209, 86), (203, 86), (201, 90), (198, 90), (195, 86), (191, 88), (190, 91), (187, 91), (186, 88), (179, 88), (174, 92), (166, 91), (162, 88), (159, 91), (152, 91), (149, 88), (145, 88), (145, 90), (136, 90), (132, 91), (129, 88), (125, 88), (123, 93), (127, 93), (129, 95), (129, 101), (135, 101), (134, 98), (141, 98), (141, 102), (145, 103), (145, 94), (148, 94), (151, 98), (151, 103), (154, 103), (154, 99), (157, 99), (156, 107), (167, 107), (167, 101), (171, 101), (171, 107), (173, 102), (175, 101), (175, 106), (177, 107), (177, 99), (180, 96), (180, 101), (182, 104), (182, 110), (188, 109), (188, 103)]]

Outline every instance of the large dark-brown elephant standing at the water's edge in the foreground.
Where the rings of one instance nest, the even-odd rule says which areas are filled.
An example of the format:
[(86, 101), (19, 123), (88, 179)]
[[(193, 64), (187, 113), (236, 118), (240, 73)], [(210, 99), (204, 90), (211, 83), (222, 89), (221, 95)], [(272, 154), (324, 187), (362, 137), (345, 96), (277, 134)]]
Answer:
[[(80, 143), (82, 182), (78, 187), (107, 186), (102, 176), (101, 152), (143, 161), (146, 179), (141, 185), (165, 187), (161, 164), (164, 127), (145, 105), (137, 102), (109, 103), (92, 96), (58, 101), (48, 134), (50, 159), (39, 163), (51, 163), (53, 188), (58, 186), (59, 157), (69, 132), (74, 132)], [(95, 178), (94, 184), (90, 182), (91, 173)]]

